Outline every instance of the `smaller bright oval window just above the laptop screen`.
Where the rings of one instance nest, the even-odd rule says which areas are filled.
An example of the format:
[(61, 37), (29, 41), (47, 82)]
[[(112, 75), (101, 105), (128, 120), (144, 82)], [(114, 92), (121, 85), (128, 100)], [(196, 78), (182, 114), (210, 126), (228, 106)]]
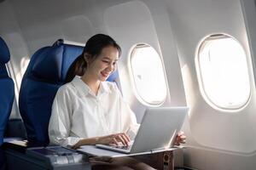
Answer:
[(164, 67), (154, 48), (137, 44), (131, 51), (131, 71), (138, 99), (148, 105), (164, 102), (167, 93)]

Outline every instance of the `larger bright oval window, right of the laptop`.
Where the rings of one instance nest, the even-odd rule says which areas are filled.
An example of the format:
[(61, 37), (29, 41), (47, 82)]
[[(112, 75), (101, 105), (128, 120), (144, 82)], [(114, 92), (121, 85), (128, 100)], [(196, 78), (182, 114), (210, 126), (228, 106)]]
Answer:
[(247, 56), (233, 37), (218, 34), (201, 42), (195, 59), (204, 98), (222, 109), (239, 109), (250, 97)]

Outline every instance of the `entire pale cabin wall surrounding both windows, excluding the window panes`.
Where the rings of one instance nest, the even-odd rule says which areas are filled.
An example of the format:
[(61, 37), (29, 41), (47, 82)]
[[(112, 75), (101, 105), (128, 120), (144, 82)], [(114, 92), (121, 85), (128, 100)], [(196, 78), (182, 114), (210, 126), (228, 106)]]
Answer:
[[(118, 65), (121, 89), (133, 111), (139, 113), (146, 106), (134, 95), (127, 58), (134, 43), (147, 42), (160, 54), (166, 69), (169, 94), (163, 105), (188, 103), (190, 107), (183, 125), (188, 138), (185, 166), (207, 170), (253, 169), (256, 117), (251, 56), (255, 53), (250, 53), (247, 35), (251, 34), (247, 32), (242, 10), (239, 0), (6, 0), (0, 3), (0, 34), (8, 42), (18, 88), (21, 76), (17, 75), (22, 75), (38, 48), (59, 38), (84, 44), (96, 33), (111, 35), (123, 49)], [(215, 110), (201, 96), (195, 50), (201, 39), (211, 33), (236, 37), (246, 51), (251, 97), (241, 111)], [(251, 36), (253, 44), (256, 39)], [(138, 120), (142, 117), (139, 113)]]

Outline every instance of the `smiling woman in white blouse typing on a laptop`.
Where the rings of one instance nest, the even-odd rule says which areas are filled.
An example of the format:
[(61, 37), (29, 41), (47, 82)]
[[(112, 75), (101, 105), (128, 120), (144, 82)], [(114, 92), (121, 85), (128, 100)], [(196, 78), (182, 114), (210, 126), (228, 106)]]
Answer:
[[(136, 116), (115, 83), (106, 82), (120, 54), (119, 45), (107, 35), (97, 34), (86, 42), (67, 73), (69, 83), (55, 96), (49, 121), (51, 143), (73, 149), (84, 144), (129, 144), (137, 133)], [(178, 135), (177, 143), (183, 139)], [(153, 169), (132, 158), (94, 160), (92, 165), (93, 169)]]

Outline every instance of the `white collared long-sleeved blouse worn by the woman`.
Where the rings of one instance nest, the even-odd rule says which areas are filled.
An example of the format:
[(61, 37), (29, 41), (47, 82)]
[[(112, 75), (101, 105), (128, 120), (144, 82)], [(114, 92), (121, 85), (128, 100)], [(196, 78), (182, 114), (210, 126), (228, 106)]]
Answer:
[(139, 125), (113, 82), (101, 82), (98, 94), (74, 77), (59, 88), (49, 120), (49, 141), (63, 146), (80, 139), (113, 133), (128, 133), (131, 139)]

